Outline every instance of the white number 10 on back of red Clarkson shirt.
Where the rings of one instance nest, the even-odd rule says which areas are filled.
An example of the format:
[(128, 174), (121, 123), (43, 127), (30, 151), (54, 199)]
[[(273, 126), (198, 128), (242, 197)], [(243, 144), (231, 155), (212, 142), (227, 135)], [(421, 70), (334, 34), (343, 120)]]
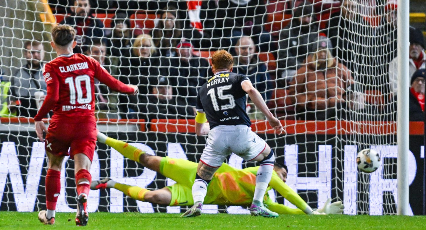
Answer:
[[(83, 89), (81, 82), (86, 85), (86, 98), (83, 98)], [(74, 83), (75, 82), (75, 83)], [(75, 92), (77, 91), (77, 103), (85, 104), (92, 101), (92, 87), (90, 86), (89, 75), (80, 75), (72, 80), (72, 77), (65, 78), (65, 83), (69, 85), (69, 103), (75, 105)]]

